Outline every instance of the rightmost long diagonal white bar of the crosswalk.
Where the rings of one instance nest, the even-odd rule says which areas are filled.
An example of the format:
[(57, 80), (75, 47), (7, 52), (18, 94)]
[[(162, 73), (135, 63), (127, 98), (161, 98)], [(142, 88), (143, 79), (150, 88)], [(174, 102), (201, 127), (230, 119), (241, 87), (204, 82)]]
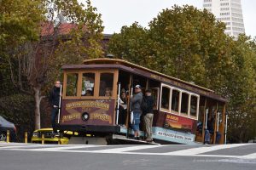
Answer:
[(170, 156), (195, 156), (198, 154), (202, 154), (202, 153), (206, 153), (214, 150), (230, 149), (230, 148), (235, 148), (243, 145), (247, 145), (247, 144), (221, 144), (221, 145), (214, 145), (209, 147), (191, 148), (188, 150), (177, 150), (177, 151), (167, 152), (165, 154)]

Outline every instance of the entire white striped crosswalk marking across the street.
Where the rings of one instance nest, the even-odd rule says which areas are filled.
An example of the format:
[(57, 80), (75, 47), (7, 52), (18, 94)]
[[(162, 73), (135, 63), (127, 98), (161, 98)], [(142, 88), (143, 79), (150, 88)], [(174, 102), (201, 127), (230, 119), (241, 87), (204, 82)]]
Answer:
[[(125, 155), (145, 155), (145, 156), (195, 156), (195, 157), (219, 157), (219, 158), (235, 158), (235, 159), (256, 159), (256, 153), (252, 153), (246, 156), (229, 156), (229, 155), (204, 155), (203, 153), (211, 152), (213, 150), (223, 150), (236, 148), (248, 144), (225, 144), (225, 145), (208, 145), (205, 147), (190, 148), (187, 150), (177, 150), (172, 152), (150, 153), (150, 152), (137, 152), (132, 150), (146, 150), (158, 148), (166, 145), (92, 145), (92, 144), (22, 144), (22, 145), (9, 145), (3, 144), (4, 147), (0, 147), (0, 150), (24, 150), (24, 151), (54, 151), (54, 152), (72, 152), (72, 153), (95, 153), (95, 154), (125, 154)], [(0, 146), (3, 146), (0, 145)], [(172, 145), (174, 146), (174, 145)], [(172, 147), (170, 145), (170, 147)], [(35, 147), (38, 147), (35, 149)], [(75, 150), (80, 148), (97, 148), (102, 147), (103, 150)], [(114, 147), (114, 148), (112, 148)], [(167, 146), (168, 147), (168, 146)], [(175, 147), (175, 146), (174, 146)], [(131, 152), (132, 151), (132, 152)]]

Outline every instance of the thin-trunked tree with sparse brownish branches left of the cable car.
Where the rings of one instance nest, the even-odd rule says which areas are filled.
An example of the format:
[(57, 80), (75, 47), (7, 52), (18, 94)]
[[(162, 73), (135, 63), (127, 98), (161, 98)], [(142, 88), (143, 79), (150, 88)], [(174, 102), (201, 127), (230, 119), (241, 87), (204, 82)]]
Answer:
[[(60, 48), (63, 48), (63, 44), (73, 44), (73, 51), (80, 48), (76, 53), (81, 53), (79, 55), (80, 59), (77, 60), (81, 60), (89, 54), (93, 57), (99, 57), (102, 55), (100, 41), (103, 27), (101, 15), (96, 14), (96, 8), (90, 5), (90, 1), (86, 2), (87, 8), (84, 8), (83, 4), (79, 4), (77, 0), (41, 0), (32, 2), (36, 2), (35, 6), (26, 6), (18, 11), (25, 11), (26, 9), (25, 13), (30, 14), (29, 17), (38, 18), (38, 20), (32, 20), (31, 28), (29, 28), (36, 32), (29, 33), (30, 38), (20, 38), (22, 41), (18, 44), (9, 43), (5, 49), (9, 49), (6, 51), (10, 52), (7, 56), (13, 84), (23, 93), (34, 97), (35, 128), (38, 129), (41, 122), (40, 103), (45, 97), (44, 90), (47, 89), (46, 85), (49, 83), (49, 71), (54, 70), (51, 69), (51, 66), (57, 66), (55, 71), (60, 70), (56, 65), (59, 63), (59, 58), (56, 58), (55, 55), (57, 54), (56, 51), (60, 51), (58, 50), (59, 45), (61, 44)], [(26, 2), (17, 1), (15, 3), (19, 6), (20, 3)], [(21, 5), (21, 7), (23, 6)], [(38, 8), (41, 12), (38, 12), (40, 17), (34, 16), (34, 8)], [(5, 37), (5, 35), (2, 37)], [(17, 37), (20, 36), (17, 35)], [(84, 38), (83, 43), (80, 41), (81, 38)], [(2, 39), (4, 40), (4, 38)], [(76, 42), (76, 46), (74, 46), (74, 42)], [(86, 43), (87, 48), (83, 47), (84, 43)], [(95, 51), (92, 50), (94, 48)], [(68, 55), (70, 51), (65, 50), (65, 53), (66, 55), (63, 57), (70, 57)], [(73, 57), (77, 56), (73, 55)], [(17, 65), (18, 69), (15, 69), (15, 65)]]

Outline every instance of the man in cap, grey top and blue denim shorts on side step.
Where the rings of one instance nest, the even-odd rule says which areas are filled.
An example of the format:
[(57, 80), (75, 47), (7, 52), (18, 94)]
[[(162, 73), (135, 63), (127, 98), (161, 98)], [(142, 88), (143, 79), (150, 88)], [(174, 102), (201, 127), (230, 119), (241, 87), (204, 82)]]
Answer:
[(131, 98), (131, 111), (133, 111), (133, 123), (131, 123), (131, 128), (134, 131), (134, 139), (139, 139), (140, 117), (143, 114), (141, 109), (142, 101), (142, 87), (140, 85), (136, 85), (135, 94)]

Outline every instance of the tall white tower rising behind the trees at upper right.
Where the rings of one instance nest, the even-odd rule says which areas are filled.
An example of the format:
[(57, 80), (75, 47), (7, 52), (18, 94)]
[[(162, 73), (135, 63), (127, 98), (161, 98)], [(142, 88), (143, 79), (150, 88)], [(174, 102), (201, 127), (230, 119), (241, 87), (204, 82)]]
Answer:
[(217, 20), (226, 24), (227, 35), (237, 38), (239, 34), (245, 32), (241, 0), (203, 0), (203, 8), (212, 12)]

